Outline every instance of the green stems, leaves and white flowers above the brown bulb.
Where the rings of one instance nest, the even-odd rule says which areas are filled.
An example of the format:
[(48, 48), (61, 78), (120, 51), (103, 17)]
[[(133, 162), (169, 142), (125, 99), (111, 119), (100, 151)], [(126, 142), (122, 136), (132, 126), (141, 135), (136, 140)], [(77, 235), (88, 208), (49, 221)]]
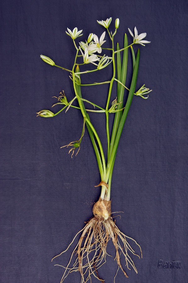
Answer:
[[(74, 65), (73, 65), (73, 68), (72, 68), (72, 71), (71, 71), (72, 77), (70, 77), (71, 80), (73, 81), (75, 97), (69, 103), (67, 102), (66, 105), (64, 106), (64, 108), (62, 108), (60, 111), (58, 111), (55, 114), (52, 113), (51, 111), (47, 112), (47, 110), (45, 110), (46, 112), (38, 112), (38, 115), (40, 115), (42, 117), (54, 117), (57, 114), (59, 114), (60, 112), (62, 112), (65, 108), (67, 108), (67, 110), (69, 109), (69, 107), (78, 108), (78, 107), (72, 105), (74, 100), (77, 99), (77, 101), (79, 103), (79, 109), (81, 110), (83, 118), (86, 122), (86, 126), (88, 128), (90, 136), (91, 136), (91, 133), (93, 135), (93, 136), (91, 136), (92, 143), (94, 143), (93, 137), (95, 137), (96, 140), (97, 140), (98, 147), (99, 147), (99, 151), (96, 151), (97, 149), (94, 146), (95, 151), (97, 152), (96, 155), (97, 155), (97, 162), (98, 162), (98, 166), (99, 166), (99, 171), (100, 171), (100, 174), (101, 174), (101, 180), (105, 181), (106, 184), (108, 184), (108, 192), (107, 193), (106, 193), (106, 187), (102, 186), (102, 191), (101, 191), (101, 198), (102, 199), (104, 199), (104, 198), (109, 199), (110, 198), (110, 186), (111, 186), (113, 164), (114, 164), (115, 155), (116, 155), (116, 152), (117, 152), (117, 146), (118, 146), (119, 138), (120, 138), (120, 135), (121, 135), (121, 132), (122, 132), (122, 129), (123, 129), (123, 125), (124, 125), (128, 110), (130, 108), (130, 104), (132, 102), (132, 97), (135, 94), (137, 96), (141, 96), (142, 98), (146, 99), (147, 97), (144, 97), (144, 94), (147, 94), (147, 93), (150, 92), (150, 90), (148, 88), (144, 87), (144, 85), (143, 85), (135, 93), (135, 83), (136, 83), (138, 66), (139, 66), (139, 51), (138, 51), (138, 54), (137, 54), (137, 61), (136, 61), (134, 51), (132, 49), (133, 44), (139, 43), (139, 44), (143, 45), (143, 43), (149, 43), (147, 41), (142, 40), (146, 36), (146, 33), (142, 33), (142, 34), (138, 35), (137, 29), (135, 27), (135, 36), (133, 36), (132, 32), (129, 29), (131, 36), (133, 36), (133, 42), (130, 45), (128, 45), (127, 36), (125, 34), (124, 48), (119, 49), (119, 45), (117, 45), (117, 49), (114, 50), (114, 35), (116, 34), (116, 31), (119, 27), (119, 19), (116, 19), (116, 21), (115, 21), (115, 32), (114, 33), (111, 32), (111, 34), (110, 34), (108, 28), (109, 28), (111, 21), (112, 21), (112, 18), (109, 18), (106, 21), (103, 21), (103, 20), (97, 21), (100, 25), (102, 25), (108, 31), (109, 37), (112, 41), (112, 47), (108, 47), (108, 48), (107, 47), (101, 47), (106, 42), (106, 40), (104, 40), (105, 31), (100, 36), (100, 39), (98, 39), (97, 35), (90, 33), (86, 42), (85, 43), (80, 42), (80, 47), (78, 48), (76, 46), (75, 39), (82, 35), (81, 34), (82, 30), (78, 31), (77, 28), (74, 28), (73, 31), (71, 31), (69, 28), (67, 28), (68, 32), (66, 31), (66, 33), (67, 33), (67, 35), (69, 35), (72, 38), (73, 43), (76, 47), (75, 62), (74, 62)], [(94, 42), (92, 42), (92, 39), (94, 40)], [(132, 51), (132, 55), (133, 55), (133, 68), (135, 68), (135, 66), (136, 66), (136, 69), (133, 69), (134, 82), (132, 82), (133, 85), (131, 84), (130, 89), (125, 86), (126, 74), (127, 74), (128, 47), (131, 47), (131, 51)], [(82, 49), (84, 50), (84, 53), (83, 53)], [(112, 51), (112, 56), (110, 57), (111, 61), (109, 61), (109, 57), (105, 56), (105, 54), (103, 56), (95, 54), (96, 52), (100, 54), (102, 52), (102, 49)], [(120, 59), (120, 55), (119, 55), (121, 51), (124, 51), (122, 66), (121, 66), (121, 59)], [(79, 54), (79, 52), (81, 53), (81, 55)], [(115, 54), (117, 54), (117, 78), (115, 78), (115, 75), (116, 75)], [(83, 57), (84, 62), (78, 64), (78, 63), (76, 63), (76, 60), (80, 56)], [(41, 58), (46, 63), (48, 63), (52, 66), (56, 66), (56, 67), (62, 68), (64, 70), (68, 70), (68, 69), (65, 69), (64, 67), (60, 67), (60, 66), (56, 65), (54, 63), (54, 61), (52, 59), (50, 59), (49, 57), (41, 55)], [(96, 63), (97, 61), (98, 61), (98, 63)], [(136, 63), (135, 63), (135, 61), (136, 61)], [(80, 72), (78, 65), (89, 64), (89, 63), (96, 65), (97, 68), (93, 69), (93, 70), (87, 70), (87, 71), (81, 71)], [(91, 72), (94, 72), (94, 71), (101, 70), (103, 68), (106, 68), (110, 63), (113, 64), (113, 76), (112, 76), (110, 81), (100, 82), (100, 83), (91, 83), (91, 84), (81, 84), (81, 81), (80, 81), (80, 75), (81, 74), (91, 73)], [(68, 70), (68, 71), (70, 71), (70, 70)], [(109, 108), (112, 86), (113, 86), (114, 80), (118, 82), (118, 84), (117, 84), (117, 101), (116, 101), (116, 104), (113, 107)], [(99, 85), (99, 84), (105, 84), (105, 83), (110, 84), (105, 109), (101, 108), (100, 106), (97, 106), (94, 103), (86, 101), (85, 99), (82, 98), (80, 86)], [(124, 89), (129, 90), (129, 96), (128, 96), (127, 104), (125, 105), (125, 109), (123, 107)], [(101, 110), (89, 110), (89, 109), (86, 110), (86, 108), (84, 106), (84, 101), (89, 102), (94, 106), (97, 106)], [(63, 102), (56, 103), (56, 104), (62, 104), (62, 103)], [(54, 105), (56, 105), (56, 104), (54, 104)], [(103, 149), (102, 149), (102, 144), (101, 144), (100, 138), (99, 138), (94, 126), (92, 125), (92, 123), (89, 119), (87, 111), (105, 112), (105, 114), (106, 114), (106, 134), (107, 134), (107, 148), (108, 148), (108, 150), (107, 150), (108, 151), (107, 152), (107, 156), (108, 156), (107, 164), (105, 162), (105, 156), (104, 156), (104, 152), (103, 152)], [(115, 114), (115, 118), (114, 118), (113, 131), (112, 131), (112, 135), (111, 135), (111, 138), (110, 138), (109, 113), (111, 113), (111, 112), (116, 112), (116, 114)]]

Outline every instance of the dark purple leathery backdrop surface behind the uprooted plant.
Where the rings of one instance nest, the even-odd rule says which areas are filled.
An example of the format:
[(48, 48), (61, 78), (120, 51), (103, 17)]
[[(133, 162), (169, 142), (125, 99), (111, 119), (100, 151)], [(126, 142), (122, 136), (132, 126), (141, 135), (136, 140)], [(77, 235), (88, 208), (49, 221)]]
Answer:
[[(110, 30), (119, 17), (115, 41), (121, 47), (124, 32), (132, 41), (128, 27), (147, 32), (151, 43), (140, 46), (136, 88), (145, 83), (153, 89), (148, 100), (133, 99), (113, 173), (112, 210), (124, 211), (116, 223), (143, 251), (142, 260), (135, 258), (138, 274), (128, 270), (126, 279), (119, 271), (116, 283), (187, 282), (187, 10), (184, 0), (2, 2), (0, 282), (58, 283), (63, 270), (51, 258), (92, 216), (100, 177), (88, 133), (76, 158), (60, 149), (80, 138), (80, 112), (36, 118), (37, 111), (51, 109), (52, 97), (61, 90), (73, 98), (69, 73), (45, 64), (39, 55), (71, 68), (75, 49), (67, 26), (83, 29), (83, 39), (90, 32), (100, 36), (104, 28), (96, 20), (110, 16)], [(107, 74), (96, 72), (83, 81), (108, 80), (111, 72), (109, 67)], [(108, 86), (83, 90), (84, 97), (102, 106), (107, 93)], [(105, 117), (93, 114), (91, 119), (106, 150)], [(66, 264), (70, 252), (54, 264)], [(159, 259), (180, 260), (181, 269), (158, 268)], [(107, 257), (99, 275), (112, 283), (116, 270)], [(80, 282), (80, 274), (72, 273), (65, 282)]]

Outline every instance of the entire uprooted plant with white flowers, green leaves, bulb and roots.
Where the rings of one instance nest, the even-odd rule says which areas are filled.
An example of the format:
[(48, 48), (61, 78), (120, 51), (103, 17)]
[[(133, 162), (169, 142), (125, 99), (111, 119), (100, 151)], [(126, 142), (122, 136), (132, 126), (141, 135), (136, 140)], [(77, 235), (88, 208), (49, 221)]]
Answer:
[[(110, 190), (111, 190), (113, 166), (114, 166), (114, 161), (115, 161), (116, 152), (118, 148), (118, 143), (119, 143), (119, 139), (120, 139), (123, 127), (124, 127), (125, 120), (127, 118), (127, 114), (129, 112), (129, 108), (130, 108), (132, 99), (134, 95), (147, 99), (148, 93), (151, 92), (151, 90), (146, 88), (145, 85), (141, 86), (141, 88), (137, 92), (135, 92), (138, 68), (139, 68), (140, 50), (139, 49), (137, 50), (137, 55), (135, 57), (135, 53), (132, 48), (132, 45), (141, 44), (145, 46), (143, 43), (149, 43), (149, 42), (146, 40), (143, 40), (143, 38), (146, 37), (146, 33), (142, 33), (138, 35), (137, 29), (135, 27), (134, 29), (135, 36), (129, 29), (130, 34), (133, 37), (133, 42), (130, 45), (128, 45), (127, 36), (125, 34), (124, 35), (124, 47), (120, 49), (119, 44), (117, 43), (116, 50), (115, 50), (114, 36), (116, 35), (117, 29), (119, 27), (119, 19), (115, 20), (114, 33), (112, 31), (109, 32), (108, 30), (111, 21), (112, 21), (111, 17), (109, 19), (106, 19), (105, 21), (104, 20), (97, 21), (108, 32), (108, 36), (112, 42), (111, 47), (108, 47), (108, 48), (102, 47), (103, 44), (106, 42), (106, 40), (104, 40), (106, 36), (106, 31), (102, 33), (100, 38), (98, 38), (97, 35), (90, 33), (88, 36), (88, 39), (85, 42), (79, 42), (79, 47), (78, 47), (78, 44), (76, 44), (75, 39), (83, 35), (81, 34), (82, 30), (78, 31), (77, 27), (75, 27), (74, 30), (71, 31), (69, 28), (67, 28), (68, 31), (66, 31), (66, 33), (72, 38), (73, 43), (75, 45), (75, 49), (76, 49), (75, 51), (76, 55), (75, 55), (75, 60), (74, 60), (72, 70), (66, 69), (64, 67), (60, 67), (56, 65), (54, 61), (50, 59), (49, 57), (41, 55), (41, 58), (46, 63), (52, 66), (62, 68), (71, 73), (70, 79), (73, 81), (75, 97), (72, 98), (68, 102), (67, 97), (64, 94), (64, 91), (60, 92), (60, 96), (56, 97), (58, 99), (58, 102), (54, 104), (54, 105), (56, 104), (64, 105), (64, 107), (60, 111), (58, 111), (57, 113), (53, 113), (50, 110), (41, 110), (37, 114), (41, 117), (54, 117), (57, 114), (59, 114), (61, 111), (63, 111), (64, 109), (66, 109), (67, 111), (70, 107), (80, 109), (81, 114), (83, 116), (83, 129), (82, 129), (80, 139), (70, 142), (69, 144), (63, 147), (69, 148), (69, 153), (71, 153), (71, 157), (73, 156), (75, 151), (76, 151), (75, 155), (77, 155), (80, 150), (80, 144), (81, 144), (82, 138), (85, 134), (85, 127), (87, 128), (95, 154), (96, 154), (98, 168), (99, 168), (100, 177), (101, 177), (101, 182), (98, 186), (102, 187), (100, 198), (93, 206), (93, 214), (94, 214), (93, 218), (91, 218), (89, 221), (86, 222), (85, 227), (76, 234), (73, 241), (69, 245), (70, 247), (71, 244), (75, 241), (76, 237), (81, 233), (81, 236), (77, 242), (77, 245), (72, 252), (69, 263), (67, 264), (66, 267), (62, 266), (64, 267), (65, 270), (64, 270), (64, 274), (63, 274), (63, 277), (60, 283), (62, 283), (64, 279), (69, 275), (69, 273), (73, 271), (80, 272), (81, 283), (84, 283), (87, 281), (91, 282), (91, 275), (95, 276), (101, 282), (104, 282), (104, 280), (99, 277), (98, 269), (106, 261), (106, 255), (107, 255), (106, 249), (107, 249), (108, 241), (110, 239), (112, 240), (115, 251), (116, 251), (115, 259), (118, 264), (118, 269), (120, 268), (123, 271), (125, 277), (128, 277), (128, 275), (125, 272), (124, 268), (122, 267), (122, 264), (120, 262), (120, 255), (124, 257), (125, 259), (125, 266), (128, 269), (132, 267), (136, 273), (137, 273), (137, 269), (131, 258), (131, 255), (138, 256), (140, 258), (140, 256), (136, 254), (133, 248), (130, 246), (130, 243), (129, 243), (130, 241), (133, 241), (136, 243), (136, 245), (138, 246), (140, 250), (141, 257), (142, 257), (140, 245), (133, 238), (130, 238), (124, 235), (124, 233), (121, 232), (119, 228), (117, 227), (117, 225), (115, 224), (115, 221), (113, 221), (113, 218), (111, 216), (112, 212), (111, 212)], [(133, 63), (132, 64), (133, 74), (132, 74), (130, 88), (125, 86), (126, 75), (127, 75), (128, 47), (131, 48), (132, 63)], [(106, 50), (106, 51), (109, 50), (107, 52), (111, 52), (111, 57), (108, 57), (105, 54), (99, 55), (102, 53), (102, 50)], [(123, 51), (123, 61), (122, 62), (121, 62), (121, 56), (120, 56), (121, 51)], [(116, 57), (116, 60), (115, 60), (115, 57)], [(81, 60), (83, 60), (82, 63), (78, 63), (79, 62), (78, 60), (80, 58)], [(85, 64), (94, 64), (96, 66), (96, 69), (80, 71), (79, 65), (85, 65)], [(100, 71), (101, 69), (106, 68), (109, 64), (113, 65), (113, 76), (111, 80), (97, 82), (97, 83), (92, 82), (88, 84), (81, 83), (81, 75), (84, 75), (86, 73), (92, 73), (94, 71)], [(113, 101), (111, 105), (109, 105), (110, 100), (111, 100), (112, 86), (113, 86), (114, 81), (117, 82), (117, 97), (116, 98), (113, 97)], [(109, 84), (109, 90), (108, 90), (108, 96), (107, 96), (107, 102), (106, 102), (105, 109), (97, 105), (96, 102), (93, 103), (91, 101), (86, 100), (85, 98), (82, 97), (82, 94), (81, 94), (82, 86), (95, 86), (95, 85), (100, 85), (100, 84)], [(125, 105), (123, 105), (125, 89), (128, 90), (128, 97), (127, 97)], [(75, 100), (77, 100), (79, 107), (73, 105)], [(86, 103), (90, 103), (91, 105), (93, 105), (94, 109), (87, 109), (85, 107)], [(90, 120), (90, 117), (89, 117), (90, 112), (94, 112), (96, 114), (100, 113), (100, 115), (101, 113), (104, 113), (106, 115), (106, 135), (107, 135), (107, 144), (108, 144), (107, 163), (105, 161), (106, 159), (105, 159), (105, 155), (103, 152), (100, 138)], [(115, 117), (111, 113), (115, 113)], [(112, 130), (111, 135), (109, 132), (109, 115), (112, 115), (114, 117), (113, 130)], [(68, 248), (64, 252), (66, 252)], [(54, 258), (60, 256), (61, 254), (55, 256)], [(73, 261), (74, 254), (76, 254), (75, 261)], [(116, 275), (114, 276), (114, 280), (115, 280)]]

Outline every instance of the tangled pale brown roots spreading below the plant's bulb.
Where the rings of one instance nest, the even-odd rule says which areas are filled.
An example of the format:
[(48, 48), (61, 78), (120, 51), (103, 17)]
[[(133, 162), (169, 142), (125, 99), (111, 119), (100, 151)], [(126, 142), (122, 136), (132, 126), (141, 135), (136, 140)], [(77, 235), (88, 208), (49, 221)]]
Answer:
[[(106, 255), (107, 255), (106, 248), (108, 241), (110, 239), (112, 239), (113, 245), (116, 250), (115, 259), (118, 264), (118, 269), (121, 269), (125, 277), (128, 278), (128, 275), (124, 271), (120, 262), (120, 256), (123, 255), (125, 259), (125, 266), (128, 269), (130, 269), (130, 267), (132, 266), (132, 268), (137, 273), (135, 264), (129, 254), (132, 253), (133, 255), (138, 256), (139, 258), (140, 256), (135, 253), (133, 248), (128, 243), (127, 239), (134, 241), (135, 244), (140, 248), (140, 252), (141, 252), (141, 247), (134, 239), (125, 236), (124, 233), (122, 233), (119, 230), (119, 228), (115, 225), (115, 222), (113, 221), (112, 217), (108, 217), (107, 220), (104, 220), (103, 217), (101, 217), (101, 219), (99, 217), (93, 217), (86, 223), (85, 227), (82, 230), (80, 230), (79, 233), (81, 232), (82, 234), (74, 251), (71, 254), (69, 263), (67, 264), (66, 267), (60, 265), (65, 268), (60, 283), (62, 283), (64, 279), (69, 275), (69, 273), (73, 271), (80, 272), (81, 283), (86, 283), (88, 281), (91, 282), (91, 275), (95, 276), (101, 283), (104, 283), (104, 280), (99, 277), (98, 269), (102, 266), (102, 264), (106, 262)], [(79, 233), (77, 233), (76, 236), (78, 236)], [(71, 244), (74, 242), (75, 238), (73, 239)], [(66, 252), (67, 249), (64, 252)], [(60, 253), (58, 256), (60, 256), (62, 253)], [(69, 267), (69, 265), (72, 262), (72, 258), (74, 254), (77, 255), (75, 262), (72, 265), (72, 267)], [(141, 257), (142, 257), (142, 252), (141, 252)]]

